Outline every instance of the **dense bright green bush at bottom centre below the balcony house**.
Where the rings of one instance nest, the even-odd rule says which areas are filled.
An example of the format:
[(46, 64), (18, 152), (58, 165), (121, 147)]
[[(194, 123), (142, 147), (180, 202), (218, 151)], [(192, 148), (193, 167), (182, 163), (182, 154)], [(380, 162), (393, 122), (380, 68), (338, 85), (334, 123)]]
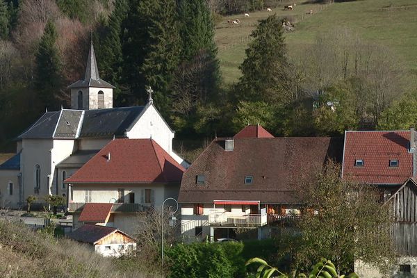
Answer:
[(179, 244), (167, 249), (170, 278), (244, 277), (243, 243)]

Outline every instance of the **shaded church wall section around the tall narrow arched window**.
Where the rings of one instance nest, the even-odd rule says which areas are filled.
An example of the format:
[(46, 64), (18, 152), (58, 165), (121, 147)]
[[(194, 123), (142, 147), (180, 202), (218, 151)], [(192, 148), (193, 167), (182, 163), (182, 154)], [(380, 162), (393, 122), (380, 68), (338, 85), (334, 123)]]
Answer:
[[(51, 149), (54, 147), (52, 139), (24, 138), (22, 140), (22, 154), (20, 156), (20, 170), (22, 172), (23, 199), (34, 195), (35, 202), (43, 202), (44, 195), (49, 194), (51, 183)], [(40, 190), (35, 193), (35, 165), (40, 166)], [(49, 177), (49, 186), (47, 179)]]

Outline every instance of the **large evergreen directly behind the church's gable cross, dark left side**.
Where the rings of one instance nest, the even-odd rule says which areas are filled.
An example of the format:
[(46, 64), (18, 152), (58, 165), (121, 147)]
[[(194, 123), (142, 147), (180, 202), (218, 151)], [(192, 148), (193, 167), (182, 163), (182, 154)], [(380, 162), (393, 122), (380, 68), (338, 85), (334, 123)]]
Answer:
[(151, 86), (154, 104), (167, 115), (180, 49), (176, 1), (131, 0), (122, 28), (126, 83), (141, 104), (147, 99), (146, 87)]

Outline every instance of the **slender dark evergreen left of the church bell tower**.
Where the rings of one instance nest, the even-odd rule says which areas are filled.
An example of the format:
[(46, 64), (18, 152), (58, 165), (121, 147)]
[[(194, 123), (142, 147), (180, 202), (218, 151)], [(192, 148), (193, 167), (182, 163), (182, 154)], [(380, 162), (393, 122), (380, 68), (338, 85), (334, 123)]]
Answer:
[(44, 106), (57, 108), (56, 97), (62, 85), (61, 62), (56, 47), (58, 34), (54, 23), (48, 21), (38, 52), (35, 54), (35, 89)]

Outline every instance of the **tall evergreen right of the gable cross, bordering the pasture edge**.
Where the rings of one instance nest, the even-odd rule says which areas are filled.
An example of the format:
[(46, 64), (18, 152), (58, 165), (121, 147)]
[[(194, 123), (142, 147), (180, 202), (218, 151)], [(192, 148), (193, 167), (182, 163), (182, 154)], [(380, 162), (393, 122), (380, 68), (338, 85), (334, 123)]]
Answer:
[[(172, 86), (174, 123), (199, 130), (199, 115), (216, 99), (220, 82), (214, 24), (205, 0), (179, 1), (181, 65)], [(198, 114), (198, 115), (197, 115)]]

